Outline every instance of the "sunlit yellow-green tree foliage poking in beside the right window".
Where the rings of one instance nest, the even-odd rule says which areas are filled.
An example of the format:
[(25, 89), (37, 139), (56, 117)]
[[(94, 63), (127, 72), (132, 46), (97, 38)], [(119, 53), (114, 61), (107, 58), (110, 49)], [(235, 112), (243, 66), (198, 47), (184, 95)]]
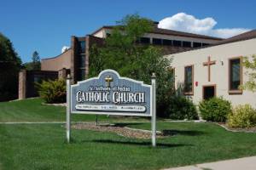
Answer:
[(248, 70), (246, 74), (249, 80), (240, 88), (256, 92), (256, 55), (253, 55), (251, 59), (244, 57), (242, 64)]

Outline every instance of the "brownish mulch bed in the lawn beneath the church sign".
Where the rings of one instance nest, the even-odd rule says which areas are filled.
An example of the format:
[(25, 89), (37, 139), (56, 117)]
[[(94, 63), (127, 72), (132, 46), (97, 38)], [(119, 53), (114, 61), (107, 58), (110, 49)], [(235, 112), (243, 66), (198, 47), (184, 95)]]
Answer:
[[(117, 133), (120, 136), (125, 136), (127, 138), (151, 139), (151, 131), (130, 127), (118, 127), (110, 124), (101, 124), (96, 126), (95, 123), (78, 123), (72, 125), (72, 127), (75, 129), (87, 129), (100, 132)], [(156, 133), (156, 138), (164, 138), (165, 136), (166, 135), (164, 135), (164, 133)]]

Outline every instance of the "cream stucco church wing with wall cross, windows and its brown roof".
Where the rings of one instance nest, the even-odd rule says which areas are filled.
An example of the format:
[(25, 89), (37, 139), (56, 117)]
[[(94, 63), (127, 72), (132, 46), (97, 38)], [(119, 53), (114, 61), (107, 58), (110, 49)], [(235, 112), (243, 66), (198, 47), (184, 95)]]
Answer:
[(202, 99), (222, 96), (232, 105), (256, 108), (256, 93), (241, 90), (248, 81), (242, 57), (256, 54), (256, 30), (213, 43), (205, 48), (167, 55), (172, 58), (176, 88), (198, 104)]

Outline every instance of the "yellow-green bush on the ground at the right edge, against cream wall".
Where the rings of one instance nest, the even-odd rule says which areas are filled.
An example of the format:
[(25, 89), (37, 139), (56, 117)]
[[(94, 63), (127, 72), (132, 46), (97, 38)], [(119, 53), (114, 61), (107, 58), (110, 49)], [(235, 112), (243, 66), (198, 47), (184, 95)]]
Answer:
[(228, 116), (229, 127), (253, 127), (256, 125), (256, 110), (251, 105), (237, 105)]

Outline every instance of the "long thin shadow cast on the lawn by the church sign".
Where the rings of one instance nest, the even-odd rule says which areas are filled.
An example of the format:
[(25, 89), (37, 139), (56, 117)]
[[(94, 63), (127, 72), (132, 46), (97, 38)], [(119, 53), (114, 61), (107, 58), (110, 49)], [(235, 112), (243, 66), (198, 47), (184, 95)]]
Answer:
[[(111, 140), (111, 139), (100, 139), (100, 140), (92, 140), (95, 143), (102, 143), (102, 144), (130, 144), (130, 145), (138, 145), (138, 146), (151, 146), (151, 142), (135, 142), (135, 141), (118, 141), (118, 140)], [(157, 146), (163, 148), (171, 148), (171, 147), (182, 147), (182, 146), (192, 146), (192, 144), (163, 144), (163, 143), (156, 143)]]

